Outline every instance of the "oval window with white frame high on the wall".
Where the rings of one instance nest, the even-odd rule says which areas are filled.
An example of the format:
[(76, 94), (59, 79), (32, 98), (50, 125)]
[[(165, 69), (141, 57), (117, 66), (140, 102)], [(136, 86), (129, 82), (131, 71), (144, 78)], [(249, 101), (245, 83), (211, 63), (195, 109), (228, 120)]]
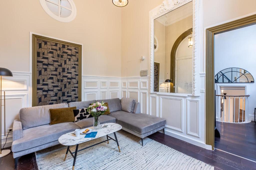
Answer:
[(60, 22), (70, 22), (77, 14), (72, 0), (40, 0), (40, 4), (49, 16)]

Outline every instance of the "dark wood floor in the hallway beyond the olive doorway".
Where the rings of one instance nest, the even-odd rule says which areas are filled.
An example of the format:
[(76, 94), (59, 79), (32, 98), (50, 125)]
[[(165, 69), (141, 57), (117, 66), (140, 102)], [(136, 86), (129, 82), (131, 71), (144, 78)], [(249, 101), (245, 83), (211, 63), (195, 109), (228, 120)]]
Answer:
[(256, 161), (256, 124), (253, 121), (241, 124), (216, 121), (216, 127), (220, 138), (215, 138), (215, 148)]

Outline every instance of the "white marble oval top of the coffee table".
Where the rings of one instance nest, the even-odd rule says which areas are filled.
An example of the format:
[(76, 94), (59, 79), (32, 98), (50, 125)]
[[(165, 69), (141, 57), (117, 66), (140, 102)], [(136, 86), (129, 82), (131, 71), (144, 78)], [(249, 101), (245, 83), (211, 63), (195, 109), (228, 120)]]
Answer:
[[(104, 125), (107, 125), (108, 127), (103, 127)], [(88, 128), (93, 129), (93, 127), (88, 127)], [(84, 130), (85, 129), (87, 128), (84, 128)], [(76, 137), (76, 135), (73, 135), (74, 132), (69, 132), (59, 137), (59, 143), (65, 146), (77, 145), (79, 143), (83, 143), (83, 142), (93, 140), (102, 136), (106, 136), (120, 129), (122, 129), (122, 126), (119, 124), (104, 123), (100, 125), (100, 129), (92, 131), (92, 132), (96, 132), (96, 131), (98, 132), (95, 138), (84, 138), (85, 135), (82, 135), (82, 134), (80, 134), (79, 137)]]

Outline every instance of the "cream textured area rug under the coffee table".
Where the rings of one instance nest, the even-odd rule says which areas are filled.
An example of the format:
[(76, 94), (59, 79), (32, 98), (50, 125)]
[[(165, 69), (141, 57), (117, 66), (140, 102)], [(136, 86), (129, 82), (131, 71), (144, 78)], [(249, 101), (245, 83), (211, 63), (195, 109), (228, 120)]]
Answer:
[[(113, 134), (109, 135), (114, 138)], [(94, 147), (80, 151), (77, 154), (75, 169), (210, 169), (214, 167), (188, 155), (176, 151), (166, 145), (152, 139), (141, 139), (128, 132), (120, 130), (116, 132), (121, 152), (118, 151), (113, 140), (101, 143)], [(106, 140), (101, 137), (79, 145), (78, 149)], [(71, 151), (75, 146), (70, 147)], [(36, 152), (38, 169), (72, 169), (73, 158), (68, 153), (63, 162), (67, 147), (63, 145), (53, 146)]]

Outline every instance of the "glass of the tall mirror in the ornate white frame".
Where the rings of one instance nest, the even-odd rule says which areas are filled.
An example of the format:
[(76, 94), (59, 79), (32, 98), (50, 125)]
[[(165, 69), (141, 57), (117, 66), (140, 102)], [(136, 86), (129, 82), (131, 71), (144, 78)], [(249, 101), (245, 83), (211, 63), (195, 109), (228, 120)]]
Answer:
[(193, 94), (193, 2), (154, 19), (153, 91)]

